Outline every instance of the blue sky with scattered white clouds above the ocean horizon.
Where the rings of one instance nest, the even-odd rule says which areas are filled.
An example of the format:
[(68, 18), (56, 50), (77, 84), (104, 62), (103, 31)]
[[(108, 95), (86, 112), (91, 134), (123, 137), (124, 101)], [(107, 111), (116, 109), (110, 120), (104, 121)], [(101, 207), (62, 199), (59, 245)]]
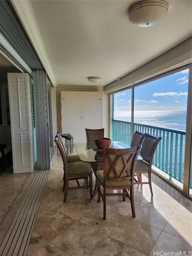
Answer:
[[(134, 110), (185, 111), (189, 69), (137, 86)], [(131, 90), (115, 93), (115, 111), (131, 110)]]

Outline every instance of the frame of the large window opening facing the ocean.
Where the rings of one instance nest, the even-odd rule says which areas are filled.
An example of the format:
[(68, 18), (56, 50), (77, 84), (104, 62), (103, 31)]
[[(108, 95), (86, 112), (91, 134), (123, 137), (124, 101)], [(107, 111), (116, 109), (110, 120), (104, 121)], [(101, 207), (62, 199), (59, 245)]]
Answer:
[[(121, 90), (114, 91), (109, 94), (109, 102), (110, 102), (110, 125), (109, 125), (109, 134), (110, 138), (112, 138), (112, 119), (114, 118), (114, 94), (118, 92), (122, 92), (128, 89), (132, 90), (131, 97), (131, 140), (133, 137), (133, 124), (134, 124), (134, 88), (140, 86), (142, 84), (146, 84), (148, 82), (157, 80), (159, 78), (174, 74), (176, 72), (180, 72), (189, 68), (189, 81), (188, 81), (188, 96), (187, 96), (187, 117), (186, 117), (186, 135), (185, 135), (185, 158), (184, 158), (184, 179), (183, 179), (183, 190), (180, 190), (184, 195), (189, 195), (189, 179), (190, 179), (190, 158), (191, 158), (191, 138), (192, 138), (192, 64), (187, 64), (181, 66), (179, 68), (173, 69), (171, 71), (167, 71), (160, 75), (154, 76), (150, 79), (146, 79), (137, 84), (127, 86)], [(192, 174), (191, 174), (192, 175)], [(171, 185), (171, 184), (170, 184)], [(179, 190), (179, 189), (178, 189)]]

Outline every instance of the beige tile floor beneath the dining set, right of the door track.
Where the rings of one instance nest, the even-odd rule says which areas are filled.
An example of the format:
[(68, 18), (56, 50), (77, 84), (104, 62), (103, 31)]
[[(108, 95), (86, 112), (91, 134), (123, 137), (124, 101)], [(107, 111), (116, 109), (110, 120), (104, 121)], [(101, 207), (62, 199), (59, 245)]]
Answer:
[(136, 218), (129, 199), (114, 196), (107, 197), (105, 221), (102, 200), (89, 203), (87, 189), (69, 191), (63, 203), (62, 177), (63, 163), (55, 155), (27, 256), (142, 256), (191, 250), (192, 202), (156, 175), (153, 196), (148, 185), (134, 188)]

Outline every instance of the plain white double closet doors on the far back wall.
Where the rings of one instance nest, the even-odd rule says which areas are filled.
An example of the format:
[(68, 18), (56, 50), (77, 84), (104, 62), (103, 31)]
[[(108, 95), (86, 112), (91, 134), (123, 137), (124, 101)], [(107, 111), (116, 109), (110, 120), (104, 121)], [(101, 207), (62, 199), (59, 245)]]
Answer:
[(85, 128), (102, 128), (101, 92), (61, 92), (62, 133), (70, 133), (74, 142), (85, 142)]

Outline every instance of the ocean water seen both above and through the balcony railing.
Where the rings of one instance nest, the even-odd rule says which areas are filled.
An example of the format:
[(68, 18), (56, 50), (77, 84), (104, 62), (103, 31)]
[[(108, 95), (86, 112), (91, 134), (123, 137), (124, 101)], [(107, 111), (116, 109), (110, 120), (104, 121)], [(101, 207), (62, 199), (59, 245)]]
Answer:
[[(114, 111), (114, 119), (120, 121), (131, 122), (131, 111)], [(134, 111), (134, 123), (145, 124), (150, 126), (156, 126), (160, 128), (167, 128), (178, 131), (186, 130), (186, 111)], [(114, 128), (112, 137), (117, 141), (130, 143), (129, 133), (124, 133), (125, 130), (120, 130), (118, 126)], [(164, 135), (157, 129), (154, 136), (161, 136), (164, 140), (164, 154), (162, 151), (162, 141), (159, 143), (156, 153), (153, 158), (153, 164), (161, 170), (169, 173), (177, 180), (183, 182), (183, 169), (184, 169), (184, 149), (185, 149), (185, 135), (178, 134), (176, 140), (176, 134), (173, 133), (173, 141), (171, 143), (170, 134), (167, 137), (167, 133)], [(164, 138), (163, 138), (164, 136)], [(178, 142), (176, 142), (178, 141)], [(128, 143), (128, 144), (129, 144)], [(127, 145), (128, 145), (127, 144)], [(172, 145), (172, 146), (171, 146)], [(180, 150), (180, 147), (181, 150)], [(171, 150), (172, 148), (172, 150)], [(172, 156), (171, 156), (172, 152)], [(159, 162), (160, 159), (160, 162)], [(164, 161), (163, 161), (164, 159)], [(171, 161), (172, 160), (172, 161)], [(170, 162), (171, 161), (171, 162)], [(167, 162), (167, 165), (166, 165)], [(167, 166), (167, 167), (166, 167)], [(180, 169), (180, 171), (179, 171)]]

